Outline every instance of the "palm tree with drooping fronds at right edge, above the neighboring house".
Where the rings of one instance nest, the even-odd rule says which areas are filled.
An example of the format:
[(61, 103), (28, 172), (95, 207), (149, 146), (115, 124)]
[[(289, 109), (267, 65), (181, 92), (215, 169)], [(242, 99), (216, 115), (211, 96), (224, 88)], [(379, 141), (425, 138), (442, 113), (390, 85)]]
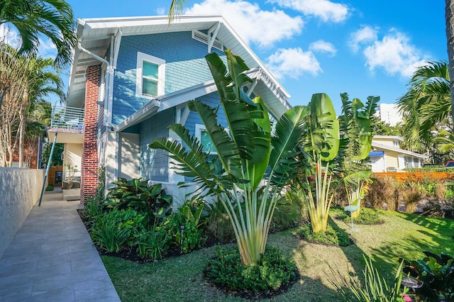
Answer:
[(408, 91), (397, 101), (397, 106), (404, 118), (405, 141), (418, 152), (430, 147), (431, 131), (448, 121), (452, 109), (448, 64), (428, 62), (416, 69)]

